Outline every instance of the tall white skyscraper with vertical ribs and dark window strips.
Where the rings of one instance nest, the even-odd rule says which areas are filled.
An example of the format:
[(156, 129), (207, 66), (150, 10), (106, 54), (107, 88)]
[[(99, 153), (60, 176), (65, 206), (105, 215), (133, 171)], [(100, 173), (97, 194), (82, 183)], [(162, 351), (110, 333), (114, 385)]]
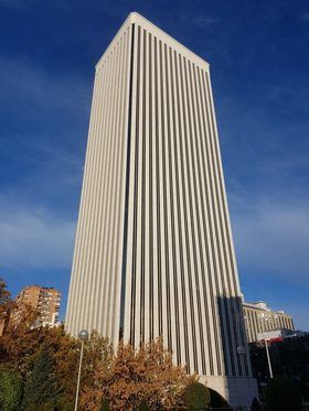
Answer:
[(96, 65), (67, 331), (162, 335), (246, 404), (239, 295), (209, 64), (131, 13)]

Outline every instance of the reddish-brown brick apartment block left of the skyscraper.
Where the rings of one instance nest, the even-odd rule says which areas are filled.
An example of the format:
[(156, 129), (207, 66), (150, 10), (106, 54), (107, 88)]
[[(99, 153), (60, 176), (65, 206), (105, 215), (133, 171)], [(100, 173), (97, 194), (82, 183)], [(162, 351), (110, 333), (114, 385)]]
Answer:
[(31, 305), (38, 311), (35, 325), (55, 326), (58, 323), (61, 292), (46, 286), (28, 285), (17, 296), (17, 302)]

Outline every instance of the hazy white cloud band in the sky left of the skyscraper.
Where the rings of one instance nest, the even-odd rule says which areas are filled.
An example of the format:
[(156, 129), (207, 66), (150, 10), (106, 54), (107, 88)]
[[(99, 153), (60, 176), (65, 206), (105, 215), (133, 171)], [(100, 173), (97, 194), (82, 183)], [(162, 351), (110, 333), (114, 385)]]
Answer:
[(71, 267), (75, 221), (46, 209), (0, 202), (0, 266), (10, 269)]

